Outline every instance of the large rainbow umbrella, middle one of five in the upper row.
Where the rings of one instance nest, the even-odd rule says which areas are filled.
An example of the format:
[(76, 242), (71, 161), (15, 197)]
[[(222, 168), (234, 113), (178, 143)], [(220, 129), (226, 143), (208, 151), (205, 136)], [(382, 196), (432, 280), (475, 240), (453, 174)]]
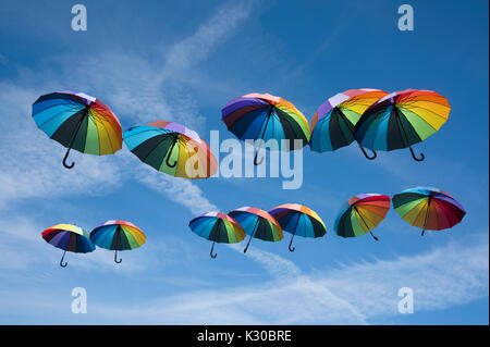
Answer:
[[(222, 121), (241, 140), (259, 139), (254, 157), (254, 164), (259, 165), (257, 156), (262, 141), (285, 139), (294, 148), (294, 139), (309, 142), (308, 121), (293, 103), (270, 94), (252, 92), (233, 99), (223, 108)], [(296, 149), (296, 148), (294, 148)]]

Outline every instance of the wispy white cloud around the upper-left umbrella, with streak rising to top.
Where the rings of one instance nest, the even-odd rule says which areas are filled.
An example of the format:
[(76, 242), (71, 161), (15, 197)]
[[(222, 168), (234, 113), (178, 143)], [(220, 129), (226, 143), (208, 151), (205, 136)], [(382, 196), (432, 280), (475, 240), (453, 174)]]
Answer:
[[(20, 199), (58, 197), (62, 195), (101, 195), (118, 188), (124, 171), (136, 179), (189, 208), (193, 212), (216, 207), (193, 183), (150, 173), (148, 168), (135, 171), (123, 162), (124, 153), (96, 158), (72, 152), (76, 166), (64, 170), (60, 162), (64, 148), (49, 141), (30, 119), (30, 104), (41, 92), (57, 89), (83, 90), (100, 97), (121, 114), (130, 125), (163, 119), (174, 120), (198, 131), (205, 119), (199, 114), (194, 97), (179, 86), (168, 85), (168, 78), (179, 74), (177, 67), (189, 67), (206, 59), (234, 28), (249, 15), (248, 4), (235, 3), (218, 9), (194, 34), (175, 44), (163, 67), (128, 53), (102, 53), (97, 57), (62, 57), (61, 74), (50, 71), (23, 70), (15, 83), (1, 83), (1, 117), (9, 119), (1, 132), (0, 205)], [(223, 17), (226, 20), (223, 21)], [(77, 69), (73, 69), (76, 65)], [(164, 73), (162, 73), (162, 71)], [(30, 86), (42, 85), (41, 88)], [(123, 122), (125, 121), (125, 122)], [(123, 125), (124, 129), (124, 125)], [(112, 158), (114, 157), (114, 158)], [(122, 165), (122, 166), (121, 166)], [(144, 166), (144, 164), (140, 164)], [(133, 172), (132, 172), (133, 171)]]

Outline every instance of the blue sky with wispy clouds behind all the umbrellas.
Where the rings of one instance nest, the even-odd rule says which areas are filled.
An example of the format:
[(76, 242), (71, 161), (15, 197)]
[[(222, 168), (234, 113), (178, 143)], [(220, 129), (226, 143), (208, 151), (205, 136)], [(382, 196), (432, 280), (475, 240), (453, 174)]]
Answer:
[[(66, 1), (0, 0), (0, 323), (3, 324), (488, 324), (488, 2), (411, 1), (415, 30), (396, 27), (395, 1), (84, 1), (88, 30), (71, 29)], [(173, 178), (115, 156), (73, 152), (30, 119), (38, 96), (84, 91), (123, 128), (182, 123), (209, 139), (221, 108), (258, 91), (308, 117), (351, 88), (431, 89), (452, 107), (441, 131), (408, 150), (367, 161), (355, 146), (304, 151), (304, 184), (281, 178)], [(223, 156), (223, 153), (221, 154)], [(368, 235), (343, 239), (333, 222), (362, 193), (436, 186), (466, 208), (449, 232), (419, 236), (394, 211)], [(304, 203), (327, 224), (320, 239), (219, 245), (194, 235), (196, 214), (242, 206)], [(68, 253), (40, 233), (58, 223), (90, 231), (106, 220), (138, 225), (147, 243), (113, 253)], [(71, 312), (85, 287), (88, 313)], [(415, 312), (397, 312), (412, 287)]]

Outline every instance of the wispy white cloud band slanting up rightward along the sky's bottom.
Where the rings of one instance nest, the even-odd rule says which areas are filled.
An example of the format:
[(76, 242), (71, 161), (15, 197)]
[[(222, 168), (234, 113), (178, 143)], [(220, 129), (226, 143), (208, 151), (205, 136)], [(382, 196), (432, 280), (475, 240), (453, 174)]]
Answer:
[[(486, 243), (451, 244), (422, 255), (297, 273), (261, 284), (148, 298), (137, 307), (93, 299), (88, 317), (98, 323), (125, 324), (391, 323), (400, 314), (401, 287), (414, 289), (415, 315), (488, 296), (488, 257)], [(14, 296), (2, 293), (0, 306), (8, 306)], [(56, 305), (50, 309), (56, 310)]]

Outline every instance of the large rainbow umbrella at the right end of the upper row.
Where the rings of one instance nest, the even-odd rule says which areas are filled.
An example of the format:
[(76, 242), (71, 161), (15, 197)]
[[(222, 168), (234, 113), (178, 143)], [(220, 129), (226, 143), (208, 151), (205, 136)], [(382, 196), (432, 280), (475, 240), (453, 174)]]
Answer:
[(451, 107), (448, 99), (430, 90), (394, 91), (375, 102), (356, 124), (355, 137), (362, 146), (372, 150), (409, 148), (420, 142), (448, 121)]

